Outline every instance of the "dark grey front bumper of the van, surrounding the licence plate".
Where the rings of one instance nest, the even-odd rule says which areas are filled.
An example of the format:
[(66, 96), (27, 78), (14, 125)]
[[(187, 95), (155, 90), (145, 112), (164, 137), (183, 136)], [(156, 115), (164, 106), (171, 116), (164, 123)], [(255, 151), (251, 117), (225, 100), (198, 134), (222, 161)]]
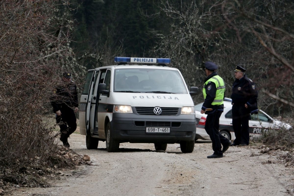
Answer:
[[(130, 143), (166, 143), (194, 141), (195, 115), (154, 116), (113, 113), (113, 138)], [(147, 133), (146, 127), (170, 127), (170, 133)]]

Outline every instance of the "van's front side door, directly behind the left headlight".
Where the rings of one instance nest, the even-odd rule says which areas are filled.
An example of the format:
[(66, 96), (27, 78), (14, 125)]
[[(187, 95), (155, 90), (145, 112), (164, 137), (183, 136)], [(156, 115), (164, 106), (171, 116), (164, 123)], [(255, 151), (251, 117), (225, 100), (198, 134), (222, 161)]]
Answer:
[[(103, 83), (106, 84), (106, 90), (110, 91), (110, 85), (111, 85), (111, 70), (110, 69), (107, 69)], [(99, 103), (98, 103), (98, 110), (97, 110), (98, 134), (100, 137), (103, 137), (103, 138), (105, 138), (104, 122), (105, 122), (107, 113), (112, 113), (112, 110), (113, 110), (113, 104), (111, 100), (112, 100), (111, 96), (107, 96), (105, 94), (101, 94), (99, 96)]]

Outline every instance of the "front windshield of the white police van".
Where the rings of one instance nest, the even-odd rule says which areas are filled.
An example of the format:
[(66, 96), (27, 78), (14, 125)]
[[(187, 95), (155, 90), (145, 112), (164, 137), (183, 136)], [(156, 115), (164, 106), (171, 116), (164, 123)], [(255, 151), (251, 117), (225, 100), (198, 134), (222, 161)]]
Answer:
[(116, 69), (114, 92), (188, 94), (179, 72), (161, 69)]

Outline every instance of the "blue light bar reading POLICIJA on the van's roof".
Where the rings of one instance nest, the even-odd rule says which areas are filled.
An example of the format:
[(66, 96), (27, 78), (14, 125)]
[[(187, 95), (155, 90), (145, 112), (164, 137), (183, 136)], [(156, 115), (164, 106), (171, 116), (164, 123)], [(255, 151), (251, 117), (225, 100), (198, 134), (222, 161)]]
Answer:
[(170, 64), (171, 59), (169, 59), (169, 58), (114, 57), (114, 62), (118, 62), (118, 63)]

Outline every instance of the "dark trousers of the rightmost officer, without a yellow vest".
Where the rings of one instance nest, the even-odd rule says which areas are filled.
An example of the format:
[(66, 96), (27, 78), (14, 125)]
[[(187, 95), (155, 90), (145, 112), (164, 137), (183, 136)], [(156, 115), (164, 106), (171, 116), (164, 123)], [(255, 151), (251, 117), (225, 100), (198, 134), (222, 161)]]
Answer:
[(236, 139), (234, 143), (236, 145), (249, 144), (249, 117), (250, 113), (244, 105), (232, 106), (232, 123), (235, 132)]

